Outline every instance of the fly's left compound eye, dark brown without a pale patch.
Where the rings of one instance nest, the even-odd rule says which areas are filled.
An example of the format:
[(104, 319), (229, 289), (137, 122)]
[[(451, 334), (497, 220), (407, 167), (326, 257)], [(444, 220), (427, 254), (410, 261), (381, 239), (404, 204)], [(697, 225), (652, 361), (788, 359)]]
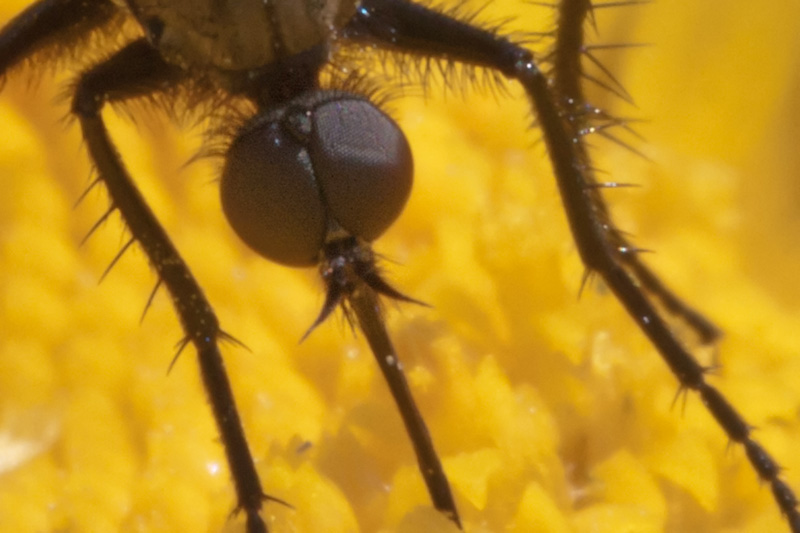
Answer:
[(233, 141), (220, 182), (222, 210), (239, 237), (265, 258), (317, 264), (327, 218), (308, 153), (278, 121)]

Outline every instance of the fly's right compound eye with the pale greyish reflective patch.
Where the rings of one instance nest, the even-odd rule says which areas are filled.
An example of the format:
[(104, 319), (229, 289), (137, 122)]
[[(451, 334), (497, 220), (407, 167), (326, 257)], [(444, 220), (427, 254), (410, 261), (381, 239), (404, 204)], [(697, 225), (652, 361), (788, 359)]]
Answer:
[(308, 151), (331, 217), (378, 238), (400, 216), (414, 164), (398, 125), (367, 100), (343, 95), (314, 108)]

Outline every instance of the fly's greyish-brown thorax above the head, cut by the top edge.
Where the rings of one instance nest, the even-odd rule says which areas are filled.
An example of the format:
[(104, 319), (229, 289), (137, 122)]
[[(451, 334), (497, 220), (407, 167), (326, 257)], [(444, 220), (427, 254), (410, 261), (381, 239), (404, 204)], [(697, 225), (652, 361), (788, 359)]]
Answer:
[(332, 38), (357, 0), (124, 0), (147, 38), (183, 68), (240, 71)]

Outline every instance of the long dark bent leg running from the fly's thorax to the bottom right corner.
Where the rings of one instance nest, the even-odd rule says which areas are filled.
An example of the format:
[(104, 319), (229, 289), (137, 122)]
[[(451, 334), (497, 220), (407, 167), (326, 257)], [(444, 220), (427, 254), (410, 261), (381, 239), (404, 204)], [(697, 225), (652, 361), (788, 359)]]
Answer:
[(650, 339), (683, 389), (700, 394), (703, 404), (727, 433), (742, 444), (753, 468), (772, 488), (775, 501), (792, 531), (800, 533), (797, 500), (780, 479), (780, 468), (767, 451), (750, 437), (750, 426), (705, 381), (703, 368), (681, 344), (657, 307), (638, 286), (636, 272), (629, 272), (614, 240), (597, 187), (586, 175), (586, 163), (576, 148), (575, 136), (566, 124), (568, 111), (554, 96), (550, 81), (527, 49), (466, 23), (461, 23), (407, 0), (364, 0), (345, 36), (374, 43), (401, 53), (438, 57), (499, 71), (518, 81), (535, 110), (548, 148), (553, 172), (578, 252), (586, 268), (605, 280), (619, 301)]

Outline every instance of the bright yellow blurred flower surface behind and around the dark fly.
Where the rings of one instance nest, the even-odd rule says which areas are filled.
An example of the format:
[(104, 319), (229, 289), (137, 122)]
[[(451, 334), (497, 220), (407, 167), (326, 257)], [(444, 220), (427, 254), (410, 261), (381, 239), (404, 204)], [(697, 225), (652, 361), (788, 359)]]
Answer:
[[(6, 21), (29, 2), (6, 0)], [(481, 4), (478, 2), (477, 4)], [(679, 294), (725, 331), (711, 376), (800, 490), (800, 3), (662, 0), (598, 13), (597, 52), (643, 119), (651, 161), (597, 141), (615, 218)], [(552, 27), (545, 8), (491, 3), (481, 20)], [(67, 76), (69, 69), (60, 71)], [(162, 291), (107, 207), (77, 207), (89, 166), (49, 72), (0, 96), (0, 531), (240, 531), (234, 494)], [(433, 305), (389, 306), (412, 389), (465, 529), (786, 531), (739, 447), (676, 381), (582, 267), (520, 91), (392, 102), (416, 186), (376, 243), (390, 279)], [(277, 533), (454, 530), (431, 510), (366, 346), (340, 319), (304, 343), (316, 273), (267, 264), (227, 227), (201, 132), (106, 112), (132, 174), (246, 351), (224, 353)], [(601, 176), (602, 177), (602, 176)], [(714, 354), (704, 353), (706, 362)]]

